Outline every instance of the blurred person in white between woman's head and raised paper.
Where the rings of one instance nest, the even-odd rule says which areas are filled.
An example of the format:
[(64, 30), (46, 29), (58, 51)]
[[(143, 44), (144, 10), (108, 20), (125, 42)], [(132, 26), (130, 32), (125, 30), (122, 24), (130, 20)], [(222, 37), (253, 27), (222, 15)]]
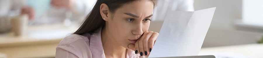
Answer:
[(169, 11), (195, 11), (194, 0), (158, 0), (153, 10), (153, 21), (163, 21)]

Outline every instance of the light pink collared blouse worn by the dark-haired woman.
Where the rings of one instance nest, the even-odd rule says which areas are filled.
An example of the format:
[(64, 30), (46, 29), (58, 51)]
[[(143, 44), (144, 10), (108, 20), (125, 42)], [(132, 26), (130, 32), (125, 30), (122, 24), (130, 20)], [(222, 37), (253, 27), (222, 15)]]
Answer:
[[(56, 58), (105, 58), (101, 42), (101, 28), (92, 34), (72, 34), (60, 41)], [(139, 57), (133, 50), (127, 50), (127, 58)]]

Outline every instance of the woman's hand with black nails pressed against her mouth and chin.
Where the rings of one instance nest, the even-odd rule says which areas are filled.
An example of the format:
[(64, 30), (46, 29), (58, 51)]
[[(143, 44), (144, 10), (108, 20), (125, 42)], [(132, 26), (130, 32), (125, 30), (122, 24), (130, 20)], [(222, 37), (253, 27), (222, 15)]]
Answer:
[(129, 44), (128, 47), (131, 50), (134, 50), (136, 54), (139, 53), (141, 56), (149, 56), (158, 35), (158, 32), (146, 31), (141, 38), (135, 42), (135, 44)]

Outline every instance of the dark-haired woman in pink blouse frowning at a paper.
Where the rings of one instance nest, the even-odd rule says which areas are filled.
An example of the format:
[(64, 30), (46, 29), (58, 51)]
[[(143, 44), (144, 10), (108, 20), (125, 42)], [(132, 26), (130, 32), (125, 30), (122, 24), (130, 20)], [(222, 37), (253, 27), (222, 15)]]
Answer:
[(156, 0), (97, 0), (82, 26), (60, 41), (56, 58), (149, 56), (158, 37), (147, 31)]

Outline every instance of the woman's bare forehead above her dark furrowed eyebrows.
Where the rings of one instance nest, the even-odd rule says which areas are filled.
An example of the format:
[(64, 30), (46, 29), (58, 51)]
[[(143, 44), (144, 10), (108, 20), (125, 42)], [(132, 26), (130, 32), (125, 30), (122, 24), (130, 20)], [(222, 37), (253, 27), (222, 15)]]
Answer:
[(148, 0), (138, 0), (124, 4), (115, 13), (132, 13), (141, 16), (153, 14), (153, 2)]

